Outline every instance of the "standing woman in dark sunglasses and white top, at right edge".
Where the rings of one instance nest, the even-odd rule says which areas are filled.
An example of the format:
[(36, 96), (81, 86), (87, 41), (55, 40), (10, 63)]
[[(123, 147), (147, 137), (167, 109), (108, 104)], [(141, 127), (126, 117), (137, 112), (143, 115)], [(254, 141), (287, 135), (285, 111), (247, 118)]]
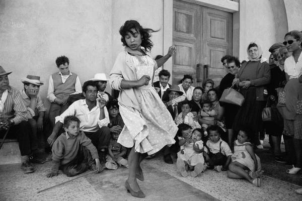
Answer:
[(302, 168), (302, 115), (297, 114), (298, 96), (302, 96), (302, 84), (298, 82), (298, 75), (302, 69), (302, 33), (299, 31), (290, 31), (285, 34), (285, 41), (289, 56), (284, 62), (284, 71), (288, 80), (285, 90), (285, 110), (284, 135), (293, 136), (293, 148), (295, 154), (295, 164), (292, 168), (286, 170), (288, 174), (296, 174)]

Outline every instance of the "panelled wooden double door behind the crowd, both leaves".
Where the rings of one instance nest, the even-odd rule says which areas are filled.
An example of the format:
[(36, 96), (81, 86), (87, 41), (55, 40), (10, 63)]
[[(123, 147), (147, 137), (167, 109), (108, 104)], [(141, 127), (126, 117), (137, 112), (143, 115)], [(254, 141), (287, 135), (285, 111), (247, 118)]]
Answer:
[(186, 1), (173, 1), (173, 84), (191, 74), (194, 86), (211, 78), (215, 86), (226, 74), (220, 59), (232, 55), (233, 14)]

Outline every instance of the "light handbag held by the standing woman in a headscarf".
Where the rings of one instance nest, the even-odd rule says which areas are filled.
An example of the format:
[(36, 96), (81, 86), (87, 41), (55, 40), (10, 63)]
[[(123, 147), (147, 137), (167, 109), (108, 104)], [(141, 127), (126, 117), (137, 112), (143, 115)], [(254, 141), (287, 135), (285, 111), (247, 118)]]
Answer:
[(244, 102), (244, 96), (233, 88), (234, 84), (230, 88), (223, 90), (219, 102), (242, 106)]

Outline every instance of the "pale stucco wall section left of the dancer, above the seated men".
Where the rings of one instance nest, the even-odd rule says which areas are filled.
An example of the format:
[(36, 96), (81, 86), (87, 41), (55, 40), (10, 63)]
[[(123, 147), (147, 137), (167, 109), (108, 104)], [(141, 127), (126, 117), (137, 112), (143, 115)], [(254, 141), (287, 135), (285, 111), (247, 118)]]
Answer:
[[(12, 86), (21, 77), (39, 75), (45, 82), (57, 71), (56, 57), (65, 55), (81, 82), (112, 66), (111, 1), (0, 0), (0, 65)], [(48, 105), (47, 102), (45, 102)]]

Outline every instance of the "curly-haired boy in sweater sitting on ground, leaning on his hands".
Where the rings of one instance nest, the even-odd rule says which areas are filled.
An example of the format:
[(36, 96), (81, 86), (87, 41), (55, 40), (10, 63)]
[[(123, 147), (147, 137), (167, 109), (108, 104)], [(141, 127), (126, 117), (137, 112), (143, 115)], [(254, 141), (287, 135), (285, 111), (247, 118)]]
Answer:
[(52, 145), (53, 167), (47, 177), (56, 176), (59, 168), (67, 176), (81, 174), (87, 169), (101, 172), (104, 168), (101, 166), (98, 151), (85, 133), (80, 131), (80, 120), (74, 116), (66, 116), (64, 130), (65, 133)]

